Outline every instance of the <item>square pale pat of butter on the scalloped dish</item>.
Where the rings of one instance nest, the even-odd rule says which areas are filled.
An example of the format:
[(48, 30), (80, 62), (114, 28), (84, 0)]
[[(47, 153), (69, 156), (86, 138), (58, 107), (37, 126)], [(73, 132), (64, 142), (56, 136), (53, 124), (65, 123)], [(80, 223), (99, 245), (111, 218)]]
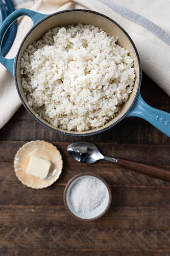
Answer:
[(51, 165), (51, 162), (48, 160), (37, 156), (31, 156), (26, 173), (43, 180), (48, 175)]

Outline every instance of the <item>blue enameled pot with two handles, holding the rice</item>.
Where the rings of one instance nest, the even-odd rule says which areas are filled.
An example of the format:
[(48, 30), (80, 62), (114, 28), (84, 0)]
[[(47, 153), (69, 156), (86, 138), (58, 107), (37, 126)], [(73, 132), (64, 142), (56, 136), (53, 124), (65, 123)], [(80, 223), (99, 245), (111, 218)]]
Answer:
[[(29, 113), (41, 124), (46, 126), (48, 129), (53, 131), (74, 136), (85, 136), (93, 135), (106, 131), (110, 127), (114, 126), (116, 123), (121, 121), (125, 117), (136, 116), (141, 117), (152, 125), (154, 125), (161, 132), (170, 137), (170, 114), (154, 109), (143, 101), (140, 95), (140, 84), (141, 84), (141, 64), (137, 49), (134, 42), (128, 35), (128, 33), (120, 27), (111, 18), (94, 11), (72, 9), (56, 12), (50, 15), (41, 14), (28, 9), (18, 9), (12, 12), (2, 23), (0, 27), (0, 44), (3, 37), (10, 27), (10, 25), (20, 16), (27, 15), (33, 20), (33, 27), (28, 32), (28, 34), (23, 39), (16, 57), (12, 59), (7, 59), (0, 54), (0, 62), (12, 73), (15, 79), (16, 89), (20, 96), (20, 99), (25, 105), (25, 108)], [(54, 127), (52, 124), (48, 123), (46, 120), (41, 118), (36, 111), (28, 104), (26, 95), (23, 93), (21, 86), (21, 75), (20, 75), (20, 58), (27, 47), (33, 43), (33, 41), (38, 40), (48, 29), (52, 29), (56, 26), (65, 26), (68, 24), (91, 24), (96, 27), (102, 28), (110, 36), (118, 37), (118, 44), (125, 49), (129, 50), (129, 55), (134, 59), (134, 69), (135, 69), (135, 83), (133, 92), (131, 93), (128, 101), (123, 105), (120, 113), (110, 120), (107, 124), (99, 129), (88, 130), (84, 132), (75, 132), (59, 129)]]

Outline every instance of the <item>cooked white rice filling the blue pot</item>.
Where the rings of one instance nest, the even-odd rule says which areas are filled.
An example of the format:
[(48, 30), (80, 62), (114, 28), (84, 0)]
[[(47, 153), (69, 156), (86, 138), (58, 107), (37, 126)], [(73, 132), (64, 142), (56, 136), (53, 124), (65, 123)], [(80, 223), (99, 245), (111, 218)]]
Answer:
[(55, 127), (86, 131), (114, 118), (132, 92), (129, 51), (92, 25), (55, 27), (23, 53), (29, 105)]

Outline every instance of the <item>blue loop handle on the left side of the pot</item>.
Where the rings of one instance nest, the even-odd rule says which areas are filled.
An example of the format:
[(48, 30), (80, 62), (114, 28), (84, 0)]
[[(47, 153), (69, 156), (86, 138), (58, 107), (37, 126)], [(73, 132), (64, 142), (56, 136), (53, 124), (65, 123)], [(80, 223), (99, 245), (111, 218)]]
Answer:
[[(38, 23), (41, 19), (48, 16), (46, 14), (42, 14), (39, 12), (35, 12), (28, 9), (18, 9), (14, 12), (12, 12), (2, 23), (0, 27), (0, 46), (2, 45), (2, 41), (4, 38), (4, 35), (8, 28), (11, 26), (13, 22), (20, 16), (27, 15), (33, 20), (33, 26)], [(1, 48), (0, 48), (1, 49)], [(14, 63), (15, 63), (15, 57), (12, 59), (7, 59), (3, 57), (2, 53), (0, 52), (0, 62), (6, 67), (11, 74), (14, 76)]]

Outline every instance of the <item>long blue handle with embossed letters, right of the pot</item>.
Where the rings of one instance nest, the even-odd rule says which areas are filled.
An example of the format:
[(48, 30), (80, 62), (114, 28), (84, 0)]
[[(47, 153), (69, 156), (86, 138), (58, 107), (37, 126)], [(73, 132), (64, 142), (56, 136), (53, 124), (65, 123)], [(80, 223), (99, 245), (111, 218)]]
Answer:
[(139, 94), (126, 117), (135, 116), (151, 123), (159, 131), (170, 137), (170, 114), (148, 105)]

